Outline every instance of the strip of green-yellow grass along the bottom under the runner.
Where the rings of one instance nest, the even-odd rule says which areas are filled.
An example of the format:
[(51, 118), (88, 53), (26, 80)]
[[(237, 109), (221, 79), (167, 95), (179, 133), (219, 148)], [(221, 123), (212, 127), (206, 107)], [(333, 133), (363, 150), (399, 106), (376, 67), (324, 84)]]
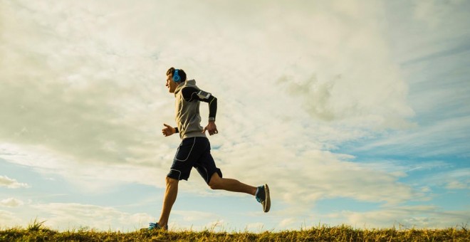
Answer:
[(351, 226), (317, 226), (300, 231), (53, 231), (33, 221), (28, 228), (0, 231), (0, 241), (470, 241), (466, 226), (445, 229), (357, 229)]

